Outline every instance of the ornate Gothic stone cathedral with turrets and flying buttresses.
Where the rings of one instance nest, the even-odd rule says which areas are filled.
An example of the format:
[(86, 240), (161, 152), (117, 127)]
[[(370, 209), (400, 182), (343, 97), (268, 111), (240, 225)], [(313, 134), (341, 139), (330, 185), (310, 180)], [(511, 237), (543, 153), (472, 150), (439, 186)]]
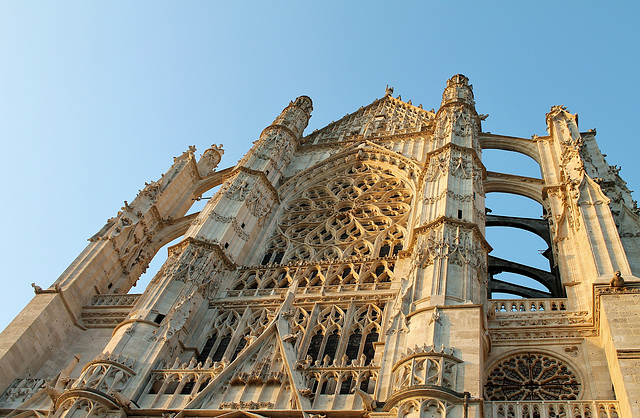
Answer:
[[(437, 111), (392, 93), (306, 134), (300, 96), (233, 167), (174, 158), (0, 334), (0, 416), (640, 417), (640, 211), (595, 130), (553, 106), (544, 136), (483, 132), (460, 74)], [(491, 227), (548, 269), (491, 255)]]

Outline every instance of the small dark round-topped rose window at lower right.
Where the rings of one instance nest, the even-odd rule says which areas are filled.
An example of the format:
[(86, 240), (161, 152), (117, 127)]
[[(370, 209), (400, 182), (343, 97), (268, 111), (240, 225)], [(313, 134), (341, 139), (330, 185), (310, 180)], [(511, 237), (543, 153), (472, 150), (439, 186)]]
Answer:
[(501, 361), (489, 373), (490, 401), (578, 399), (580, 381), (563, 361), (544, 354), (521, 353)]

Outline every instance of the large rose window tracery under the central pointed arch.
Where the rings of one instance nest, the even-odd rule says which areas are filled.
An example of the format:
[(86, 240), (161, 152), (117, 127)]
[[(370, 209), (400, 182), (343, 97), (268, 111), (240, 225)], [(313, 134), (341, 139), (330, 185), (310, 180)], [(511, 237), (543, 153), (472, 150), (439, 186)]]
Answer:
[(262, 264), (394, 256), (413, 193), (389, 170), (358, 161), (314, 179), (285, 203)]

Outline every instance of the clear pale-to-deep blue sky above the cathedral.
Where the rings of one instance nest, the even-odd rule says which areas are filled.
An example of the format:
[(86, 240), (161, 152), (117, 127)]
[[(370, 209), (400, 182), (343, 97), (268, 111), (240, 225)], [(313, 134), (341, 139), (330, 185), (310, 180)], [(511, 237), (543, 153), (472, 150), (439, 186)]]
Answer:
[(233, 165), (301, 94), (311, 132), (386, 84), (437, 109), (463, 73), (485, 131), (544, 135), (564, 104), (640, 187), (640, 3), (310, 3), (0, 2), (0, 329), (172, 157), (223, 143)]

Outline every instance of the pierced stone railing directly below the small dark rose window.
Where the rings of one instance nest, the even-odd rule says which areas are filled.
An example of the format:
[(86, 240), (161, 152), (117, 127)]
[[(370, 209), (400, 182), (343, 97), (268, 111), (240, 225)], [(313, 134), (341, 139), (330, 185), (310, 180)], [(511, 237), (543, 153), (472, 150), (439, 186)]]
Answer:
[(484, 408), (492, 418), (620, 418), (618, 401), (493, 401)]

